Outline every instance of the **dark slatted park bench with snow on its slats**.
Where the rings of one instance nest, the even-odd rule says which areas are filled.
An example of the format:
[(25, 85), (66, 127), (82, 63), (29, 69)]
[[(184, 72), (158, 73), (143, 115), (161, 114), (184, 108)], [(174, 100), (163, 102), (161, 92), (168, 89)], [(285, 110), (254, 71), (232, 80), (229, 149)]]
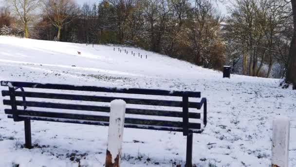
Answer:
[[(120, 89), (96, 86), (39, 84), (7, 81), (1, 81), (1, 86), (8, 87), (8, 90), (2, 90), (2, 96), (10, 97), (9, 100), (8, 98), (4, 98), (3, 100), (4, 105), (11, 106), (11, 109), (6, 108), (4, 110), (5, 114), (8, 114), (8, 118), (12, 118), (15, 122), (24, 121), (26, 148), (32, 148), (31, 120), (108, 126), (109, 116), (108, 114), (106, 115), (106, 113), (110, 112), (110, 106), (106, 106), (106, 104), (103, 103), (110, 104), (112, 100), (122, 99), (127, 104), (133, 104), (133, 107), (127, 106), (126, 108), (126, 114), (128, 115), (126, 115), (124, 127), (183, 132), (183, 135), (187, 136), (186, 167), (190, 167), (192, 162), (193, 133), (201, 133), (203, 131), (203, 127), (206, 125), (206, 99), (202, 98), (201, 102), (189, 102), (189, 98), (201, 98), (200, 92), (138, 88)], [(24, 88), (29, 89), (29, 91), (24, 91)], [(58, 91), (58, 93), (49, 92), (49, 90)], [(69, 91), (78, 93), (67, 93)], [(93, 96), (82, 95), (82, 93), (79, 92), (104, 92), (105, 94), (104, 96)], [(119, 95), (125, 95), (127, 97), (118, 97)], [(159, 100), (160, 98), (139, 98), (140, 95), (163, 97), (166, 98), (166, 100)], [(172, 96), (181, 97), (182, 100), (181, 98), (179, 98), (179, 101), (167, 100)], [(26, 98), (30, 98), (30, 100), (26, 101)], [(50, 100), (50, 102), (40, 102), (40, 99), (47, 99)], [(82, 103), (95, 102), (96, 105), (53, 103), (51, 102), (52, 100), (62, 100), (63, 102), (65, 100), (67, 102), (77, 101)], [(19, 108), (18, 106), (22, 106), (23, 109)], [(143, 107), (139, 106), (153, 106), (154, 108), (143, 109)], [(192, 112), (193, 108), (195, 108), (195, 110), (201, 109), (202, 106), (203, 114), (196, 111)], [(30, 109), (27, 107), (33, 108)], [(38, 109), (35, 109), (35, 107), (38, 107)], [(180, 111), (173, 109), (161, 109), (159, 107), (177, 107)], [(53, 109), (54, 112), (48, 112), (48, 108)], [(63, 112), (64, 109), (73, 112)], [(75, 113), (75, 111), (78, 110), (95, 111), (98, 115)], [(141, 118), (132, 118), (133, 115), (141, 116)], [(148, 116), (155, 116), (158, 119), (147, 119)], [(173, 118), (179, 118), (180, 120), (175, 121)], [(198, 121), (200, 122), (198, 123)]]

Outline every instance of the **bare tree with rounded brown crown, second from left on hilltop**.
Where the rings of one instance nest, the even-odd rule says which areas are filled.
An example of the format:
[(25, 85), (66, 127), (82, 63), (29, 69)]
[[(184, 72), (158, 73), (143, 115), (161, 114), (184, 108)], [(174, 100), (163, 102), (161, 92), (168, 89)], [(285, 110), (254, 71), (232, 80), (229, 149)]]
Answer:
[(61, 29), (73, 21), (78, 13), (74, 0), (43, 0), (43, 11), (50, 22), (57, 28), (57, 40), (60, 41)]

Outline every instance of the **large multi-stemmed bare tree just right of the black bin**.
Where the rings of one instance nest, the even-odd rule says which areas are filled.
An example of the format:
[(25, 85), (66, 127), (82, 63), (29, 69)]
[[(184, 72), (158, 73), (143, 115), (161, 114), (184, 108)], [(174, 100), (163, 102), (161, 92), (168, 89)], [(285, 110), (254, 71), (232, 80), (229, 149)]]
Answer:
[[(275, 39), (289, 26), (289, 9), (282, 4), (278, 0), (236, 0), (231, 8), (228, 38), (240, 47), (244, 75), (248, 69), (250, 76), (270, 76), (279, 54)], [(262, 72), (264, 64), (268, 65), (266, 73)]]

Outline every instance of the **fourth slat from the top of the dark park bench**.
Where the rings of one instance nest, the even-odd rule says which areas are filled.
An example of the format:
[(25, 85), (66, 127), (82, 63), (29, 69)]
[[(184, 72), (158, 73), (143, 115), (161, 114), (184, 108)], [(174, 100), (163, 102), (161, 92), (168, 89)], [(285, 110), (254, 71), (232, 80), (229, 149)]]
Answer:
[[(17, 113), (19, 115), (33, 116), (33, 117), (74, 119), (74, 120), (86, 120), (86, 121), (97, 121), (97, 122), (109, 123), (108, 116), (97, 116), (97, 115), (94, 116), (94, 115), (84, 115), (84, 114), (71, 114), (71, 113), (33, 111), (33, 110), (17, 110)], [(14, 111), (12, 111), (11, 109), (5, 109), (5, 114), (14, 114)], [(183, 128), (183, 123), (178, 121), (148, 120), (148, 119), (138, 119), (138, 118), (125, 118), (125, 124)], [(201, 129), (201, 124), (189, 123), (189, 128)]]

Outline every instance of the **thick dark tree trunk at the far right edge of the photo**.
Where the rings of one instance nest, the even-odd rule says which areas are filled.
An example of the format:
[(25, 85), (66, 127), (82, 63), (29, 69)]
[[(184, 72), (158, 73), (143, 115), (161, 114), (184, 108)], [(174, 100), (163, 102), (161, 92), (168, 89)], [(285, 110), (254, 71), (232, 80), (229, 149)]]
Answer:
[(296, 89), (296, 0), (291, 0), (293, 11), (294, 34), (289, 51), (289, 66), (287, 70), (287, 81)]

